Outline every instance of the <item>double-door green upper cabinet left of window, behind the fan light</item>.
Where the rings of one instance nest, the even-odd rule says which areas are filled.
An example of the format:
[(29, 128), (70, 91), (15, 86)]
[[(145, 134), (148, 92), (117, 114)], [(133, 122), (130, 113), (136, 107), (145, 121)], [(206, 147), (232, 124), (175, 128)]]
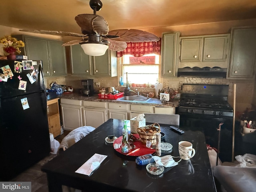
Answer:
[(80, 45), (71, 46), (73, 75), (117, 76), (116, 52), (107, 50), (102, 56), (88, 56)]

